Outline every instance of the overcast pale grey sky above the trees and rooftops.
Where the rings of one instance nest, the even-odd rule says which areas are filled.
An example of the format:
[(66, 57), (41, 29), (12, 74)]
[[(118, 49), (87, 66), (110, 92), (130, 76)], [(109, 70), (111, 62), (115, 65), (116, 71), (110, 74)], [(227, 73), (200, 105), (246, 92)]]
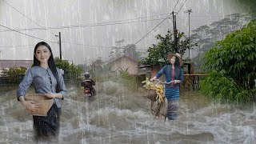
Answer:
[(156, 43), (156, 34), (173, 29), (171, 19), (162, 22), (173, 10), (178, 12), (178, 30), (188, 34), (188, 9), (193, 11), (190, 31), (227, 14), (247, 12), (235, 0), (0, 0), (0, 59), (33, 59), (34, 46), (41, 41), (59, 56), (58, 32), (62, 59), (75, 64), (107, 60), (111, 46), (121, 39), (122, 45), (136, 43), (146, 52)]

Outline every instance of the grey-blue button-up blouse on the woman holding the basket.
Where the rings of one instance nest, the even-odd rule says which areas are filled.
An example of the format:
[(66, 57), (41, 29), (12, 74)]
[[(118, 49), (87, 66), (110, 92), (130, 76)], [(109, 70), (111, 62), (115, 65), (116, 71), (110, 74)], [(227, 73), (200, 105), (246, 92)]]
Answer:
[[(61, 71), (58, 68), (57, 71), (60, 87), (59, 93), (61, 93), (64, 98), (66, 97), (66, 86)], [(46, 94), (48, 92), (56, 93), (57, 81), (54, 78), (54, 74), (51, 72), (50, 68), (48, 67), (47, 69), (45, 69), (41, 66), (33, 66), (26, 71), (22, 82), (19, 84), (17, 90), (17, 98), (26, 95), (26, 90), (29, 89), (32, 82), (34, 84), (34, 90), (36, 94)], [(56, 103), (58, 108), (61, 107), (59, 98), (54, 98), (54, 102)]]

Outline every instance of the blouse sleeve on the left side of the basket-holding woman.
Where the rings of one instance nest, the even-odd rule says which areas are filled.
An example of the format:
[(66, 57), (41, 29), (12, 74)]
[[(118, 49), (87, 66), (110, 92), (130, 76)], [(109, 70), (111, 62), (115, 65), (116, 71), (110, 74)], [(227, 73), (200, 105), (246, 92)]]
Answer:
[(26, 95), (26, 90), (28, 90), (32, 82), (33, 82), (33, 76), (31, 73), (31, 69), (29, 69), (26, 71), (26, 74), (22, 79), (22, 82), (18, 85), (17, 98), (19, 98), (20, 96)]

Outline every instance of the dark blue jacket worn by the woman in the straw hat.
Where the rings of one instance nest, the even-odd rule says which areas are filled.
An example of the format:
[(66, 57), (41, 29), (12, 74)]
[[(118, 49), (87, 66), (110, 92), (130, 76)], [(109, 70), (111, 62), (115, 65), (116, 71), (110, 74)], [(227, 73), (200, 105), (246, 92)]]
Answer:
[[(175, 74), (174, 69), (172, 69), (170, 65), (166, 65), (166, 66), (163, 66), (162, 69), (158, 71), (158, 73), (156, 74), (156, 78), (160, 78), (162, 74), (165, 74), (166, 82), (170, 82), (173, 80), (180, 80), (181, 81), (180, 83), (182, 83), (184, 81), (182, 68), (179, 69), (178, 74)], [(172, 82), (170, 84), (166, 84), (166, 86), (178, 88), (180, 83), (174, 84), (174, 82)]]

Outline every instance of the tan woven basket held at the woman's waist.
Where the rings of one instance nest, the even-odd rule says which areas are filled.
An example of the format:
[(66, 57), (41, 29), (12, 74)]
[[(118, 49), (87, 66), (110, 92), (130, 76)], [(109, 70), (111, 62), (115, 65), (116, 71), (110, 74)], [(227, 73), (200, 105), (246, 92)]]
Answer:
[(24, 97), (26, 101), (34, 101), (39, 104), (39, 110), (37, 112), (30, 111), (30, 114), (37, 116), (47, 116), (47, 112), (50, 110), (50, 107), (54, 104), (53, 98), (47, 98), (43, 94), (26, 94)]

